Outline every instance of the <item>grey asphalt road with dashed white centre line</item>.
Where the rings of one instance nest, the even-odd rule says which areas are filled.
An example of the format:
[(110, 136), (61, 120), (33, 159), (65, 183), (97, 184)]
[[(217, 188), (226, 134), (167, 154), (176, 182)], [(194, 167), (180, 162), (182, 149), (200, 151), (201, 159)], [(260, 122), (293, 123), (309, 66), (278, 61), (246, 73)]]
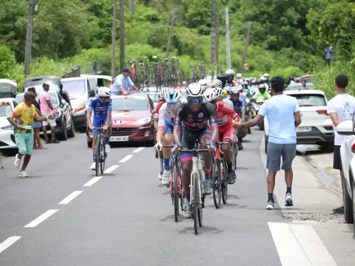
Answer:
[(246, 138), (227, 204), (216, 210), (207, 199), (199, 235), (192, 219), (175, 223), (152, 148), (112, 148), (99, 179), (84, 134), (35, 150), (26, 179), (3, 158), (0, 265), (317, 265), (280, 209), (265, 209), (261, 136), (255, 129)]

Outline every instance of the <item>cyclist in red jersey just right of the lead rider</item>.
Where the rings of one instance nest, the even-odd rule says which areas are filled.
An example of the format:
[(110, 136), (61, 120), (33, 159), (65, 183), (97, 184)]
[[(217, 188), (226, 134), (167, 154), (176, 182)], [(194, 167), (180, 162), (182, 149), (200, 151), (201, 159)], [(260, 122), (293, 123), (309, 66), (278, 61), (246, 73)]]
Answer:
[[(234, 141), (234, 128), (233, 124), (234, 122), (238, 121), (240, 119), (240, 116), (238, 116), (238, 113), (234, 111), (229, 104), (226, 104), (224, 101), (217, 101), (217, 89), (209, 89), (206, 92), (204, 92), (203, 97), (204, 101), (209, 101), (211, 104), (214, 105), (214, 108), (216, 109), (216, 117), (217, 117), (217, 122), (218, 122), (218, 131), (219, 131), (219, 137), (218, 141), (230, 141), (231, 144)], [(234, 157), (234, 151), (233, 151), (233, 145), (232, 150), (230, 149), (229, 145), (222, 145), (222, 151), (224, 155), (226, 156), (226, 165), (228, 167), (227, 172), (228, 172), (228, 183), (229, 184), (234, 184), (236, 182), (236, 172), (234, 171), (232, 167), (232, 162), (233, 162), (233, 157)]]

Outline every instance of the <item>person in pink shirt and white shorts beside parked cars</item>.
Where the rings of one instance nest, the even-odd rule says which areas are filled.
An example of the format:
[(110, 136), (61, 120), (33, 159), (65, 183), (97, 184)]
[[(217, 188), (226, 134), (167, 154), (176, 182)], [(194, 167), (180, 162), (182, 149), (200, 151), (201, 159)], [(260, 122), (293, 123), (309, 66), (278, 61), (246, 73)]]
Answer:
[[(49, 91), (49, 84), (43, 83), (43, 89), (44, 91), (41, 92), (40, 94), (40, 108), (42, 110), (43, 116), (50, 116), (53, 112), (53, 106), (52, 103), (50, 102), (50, 94), (48, 93)], [(50, 134), (52, 135), (52, 140), (48, 138), (47, 134), (47, 126), (48, 124), (50, 125)], [(48, 121), (43, 122), (43, 135), (45, 137), (45, 143), (60, 143), (60, 141), (55, 139), (55, 126), (57, 126), (57, 123), (55, 123), (55, 119), (48, 119)]]

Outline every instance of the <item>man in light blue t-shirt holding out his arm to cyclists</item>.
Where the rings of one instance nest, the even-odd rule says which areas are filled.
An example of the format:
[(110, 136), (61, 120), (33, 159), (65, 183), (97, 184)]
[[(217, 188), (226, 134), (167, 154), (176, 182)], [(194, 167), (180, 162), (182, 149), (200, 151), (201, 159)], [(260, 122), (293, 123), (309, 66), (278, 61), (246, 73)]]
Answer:
[(300, 107), (298, 101), (293, 96), (283, 94), (285, 80), (282, 77), (271, 79), (271, 89), (273, 96), (265, 101), (253, 120), (246, 123), (236, 123), (239, 128), (250, 128), (258, 125), (267, 116), (269, 124), (269, 138), (267, 146), (268, 168), (268, 204), (266, 209), (275, 208), (273, 190), (275, 188), (275, 177), (281, 166), (285, 170), (286, 195), (285, 206), (293, 206), (292, 182), (293, 170), (292, 162), (296, 156), (296, 127), (301, 123)]

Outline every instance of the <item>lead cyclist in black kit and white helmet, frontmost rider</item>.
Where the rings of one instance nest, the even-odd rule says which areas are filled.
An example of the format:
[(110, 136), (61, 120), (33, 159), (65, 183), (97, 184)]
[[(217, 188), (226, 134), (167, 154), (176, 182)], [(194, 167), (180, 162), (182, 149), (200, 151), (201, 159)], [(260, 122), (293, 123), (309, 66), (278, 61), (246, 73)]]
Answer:
[[(196, 140), (200, 142), (202, 149), (210, 152), (215, 150), (218, 137), (218, 123), (214, 106), (209, 102), (203, 102), (204, 90), (200, 84), (192, 83), (187, 87), (187, 103), (180, 104), (175, 114), (174, 150), (192, 150)], [(209, 123), (209, 126), (208, 126)], [(183, 125), (183, 128), (182, 128)], [(182, 136), (181, 136), (182, 131)], [(190, 182), (192, 170), (192, 153), (182, 153), (182, 186), (185, 192), (185, 210), (183, 216), (191, 218), (192, 206), (190, 201)], [(212, 194), (211, 187), (212, 155), (204, 153), (204, 194)]]

